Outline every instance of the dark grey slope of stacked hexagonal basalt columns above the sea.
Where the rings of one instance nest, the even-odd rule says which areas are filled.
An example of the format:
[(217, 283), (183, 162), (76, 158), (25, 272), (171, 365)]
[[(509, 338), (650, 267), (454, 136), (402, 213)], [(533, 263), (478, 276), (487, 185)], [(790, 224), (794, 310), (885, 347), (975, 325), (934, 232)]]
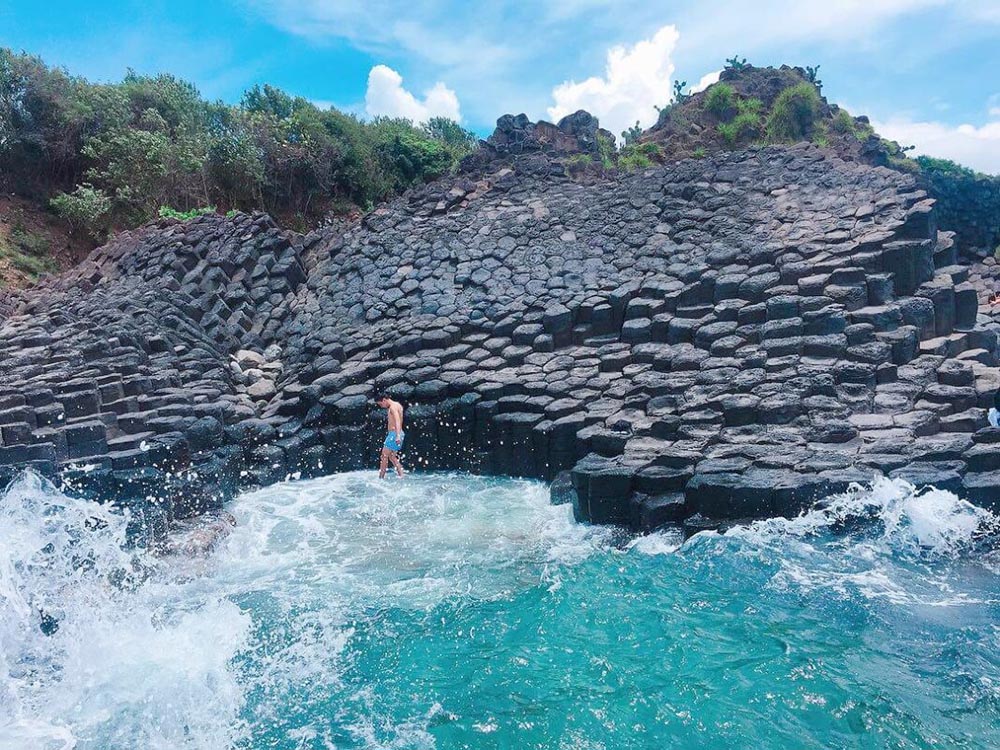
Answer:
[(346, 228), (160, 222), (8, 298), (0, 463), (155, 529), (372, 466), (378, 389), (411, 466), (552, 480), (594, 522), (796, 513), (878, 472), (997, 497), (997, 324), (913, 177), (800, 145), (581, 184), (508, 136)]

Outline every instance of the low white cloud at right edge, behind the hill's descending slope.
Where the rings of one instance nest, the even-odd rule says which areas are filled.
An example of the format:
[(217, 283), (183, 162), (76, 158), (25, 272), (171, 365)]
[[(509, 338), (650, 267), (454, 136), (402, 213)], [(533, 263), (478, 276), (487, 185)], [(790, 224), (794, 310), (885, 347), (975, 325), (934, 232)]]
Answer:
[(887, 138), (904, 146), (916, 146), (917, 154), (943, 157), (981, 172), (1000, 174), (1000, 119), (978, 127), (904, 119), (872, 121), (872, 125)]

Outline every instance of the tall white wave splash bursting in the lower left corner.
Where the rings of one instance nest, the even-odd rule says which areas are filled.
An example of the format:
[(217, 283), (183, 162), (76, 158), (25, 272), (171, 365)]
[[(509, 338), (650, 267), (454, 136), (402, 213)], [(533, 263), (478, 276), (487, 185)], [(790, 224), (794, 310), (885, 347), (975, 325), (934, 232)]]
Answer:
[(0, 747), (226, 747), (249, 617), (191, 607), (127, 514), (26, 474), (0, 500)]

